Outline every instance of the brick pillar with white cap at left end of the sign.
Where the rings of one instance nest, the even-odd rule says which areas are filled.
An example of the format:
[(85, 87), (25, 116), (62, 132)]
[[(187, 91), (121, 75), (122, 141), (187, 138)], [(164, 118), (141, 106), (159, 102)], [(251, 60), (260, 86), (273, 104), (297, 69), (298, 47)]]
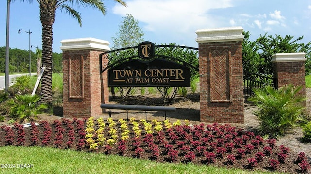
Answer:
[(100, 104), (109, 102), (109, 93), (107, 72), (100, 74), (99, 54), (110, 50), (109, 42), (80, 38), (61, 43), (64, 118), (102, 114)]

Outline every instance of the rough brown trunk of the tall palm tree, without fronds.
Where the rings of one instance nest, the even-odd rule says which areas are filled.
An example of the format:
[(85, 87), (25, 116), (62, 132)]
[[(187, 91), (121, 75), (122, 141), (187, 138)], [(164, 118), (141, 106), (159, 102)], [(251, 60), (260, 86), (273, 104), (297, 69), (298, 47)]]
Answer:
[(40, 20), (42, 25), (42, 64), (45, 71), (41, 82), (41, 102), (52, 105), (52, 53), (53, 53), (53, 24), (55, 8), (45, 4), (40, 6)]

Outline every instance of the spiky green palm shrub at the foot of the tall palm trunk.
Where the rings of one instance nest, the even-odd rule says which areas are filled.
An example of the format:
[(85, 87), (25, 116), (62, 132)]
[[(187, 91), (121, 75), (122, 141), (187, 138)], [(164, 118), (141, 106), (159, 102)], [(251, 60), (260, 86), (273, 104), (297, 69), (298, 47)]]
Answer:
[(48, 106), (44, 103), (39, 104), (38, 95), (16, 95), (10, 99), (8, 104), (11, 106), (9, 116), (17, 119), (19, 122), (33, 121), (37, 119), (37, 114), (41, 113)]

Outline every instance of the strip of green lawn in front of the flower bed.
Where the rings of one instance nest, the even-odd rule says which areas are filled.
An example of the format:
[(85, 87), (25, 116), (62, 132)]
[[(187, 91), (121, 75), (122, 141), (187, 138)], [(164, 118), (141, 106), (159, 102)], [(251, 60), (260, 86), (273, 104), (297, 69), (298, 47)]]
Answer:
[[(117, 155), (38, 146), (0, 147), (0, 154), (1, 164), (16, 164), (16, 168), (1, 168), (1, 174), (264, 174), (206, 165), (156, 163)], [(33, 167), (17, 168), (17, 164)]]

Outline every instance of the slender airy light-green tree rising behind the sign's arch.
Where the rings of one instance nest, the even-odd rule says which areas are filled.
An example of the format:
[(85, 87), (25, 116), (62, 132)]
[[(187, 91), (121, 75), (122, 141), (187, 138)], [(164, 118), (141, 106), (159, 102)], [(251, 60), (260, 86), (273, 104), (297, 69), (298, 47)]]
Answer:
[[(126, 48), (131, 46), (137, 46), (139, 43), (143, 42), (143, 36), (145, 35), (142, 29), (138, 26), (138, 19), (134, 19), (131, 14), (126, 14), (123, 17), (123, 21), (119, 25), (119, 30), (115, 34), (115, 37), (111, 37), (113, 42), (112, 50)], [(123, 57), (114, 56), (112, 59), (109, 59), (109, 63), (114, 63), (121, 58), (126, 58), (135, 55), (134, 50), (127, 50), (127, 53), (124, 52), (121, 54)], [(124, 57), (126, 55), (126, 57)], [(134, 87), (117, 87), (120, 91), (121, 97), (128, 96)], [(113, 87), (112, 87), (113, 90)], [(114, 91), (112, 91), (114, 92)]]

